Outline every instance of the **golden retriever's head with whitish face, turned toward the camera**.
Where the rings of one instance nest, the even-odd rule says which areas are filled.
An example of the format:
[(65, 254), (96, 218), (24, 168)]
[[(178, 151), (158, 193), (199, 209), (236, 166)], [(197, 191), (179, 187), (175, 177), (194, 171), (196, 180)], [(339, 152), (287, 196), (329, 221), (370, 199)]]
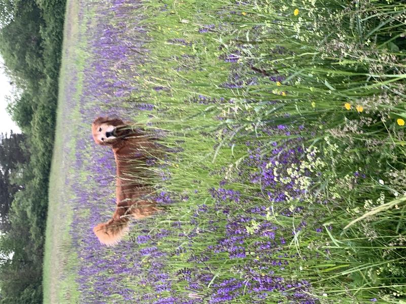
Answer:
[(94, 142), (101, 145), (114, 144), (123, 136), (124, 127), (121, 119), (98, 117), (92, 123)]

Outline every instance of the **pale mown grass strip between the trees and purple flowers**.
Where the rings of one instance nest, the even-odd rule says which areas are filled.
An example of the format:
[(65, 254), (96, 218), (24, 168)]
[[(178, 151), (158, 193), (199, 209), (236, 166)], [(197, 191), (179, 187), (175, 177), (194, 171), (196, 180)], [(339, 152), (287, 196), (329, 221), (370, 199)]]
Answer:
[[(71, 2), (66, 6), (64, 39), (62, 52), (62, 65), (59, 80), (59, 102), (57, 113), (57, 126), (55, 131), (55, 145), (51, 165), (49, 185), (49, 208), (47, 217), (47, 231), (44, 257), (44, 303), (56, 303), (71, 298), (72, 289), (69, 292), (58, 292), (65, 281), (69, 280), (66, 267), (70, 264), (69, 248), (71, 238), (69, 236), (69, 223), (72, 220), (73, 210), (69, 204), (69, 181), (67, 173), (72, 166), (73, 148), (75, 143), (74, 113), (71, 109), (80, 93), (77, 92), (77, 77), (80, 73), (80, 65), (75, 64), (78, 57), (80, 42), (81, 16), (80, 3)], [(72, 260), (71, 260), (72, 261)], [(73, 285), (75, 286), (75, 284)]]

